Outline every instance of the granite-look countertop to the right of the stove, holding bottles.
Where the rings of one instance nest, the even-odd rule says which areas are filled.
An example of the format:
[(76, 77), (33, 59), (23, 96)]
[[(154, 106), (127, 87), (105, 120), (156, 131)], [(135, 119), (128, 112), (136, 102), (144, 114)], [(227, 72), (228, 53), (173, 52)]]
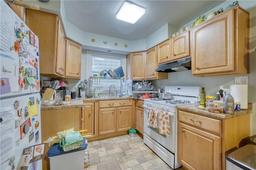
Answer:
[(192, 111), (194, 113), (198, 113), (201, 115), (216, 117), (220, 119), (230, 119), (232, 117), (238, 117), (246, 114), (252, 113), (252, 104), (248, 104), (248, 109), (241, 109), (240, 111), (235, 111), (234, 115), (229, 115), (226, 113), (212, 113), (207, 110), (199, 109), (198, 106), (195, 106), (194, 104), (186, 104), (186, 105), (177, 105), (178, 109), (186, 110), (186, 111)]

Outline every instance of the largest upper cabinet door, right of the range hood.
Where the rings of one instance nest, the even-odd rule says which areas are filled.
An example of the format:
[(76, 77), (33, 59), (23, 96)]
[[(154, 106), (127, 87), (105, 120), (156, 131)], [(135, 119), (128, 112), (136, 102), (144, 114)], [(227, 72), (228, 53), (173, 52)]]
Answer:
[(233, 11), (190, 30), (192, 75), (234, 70)]

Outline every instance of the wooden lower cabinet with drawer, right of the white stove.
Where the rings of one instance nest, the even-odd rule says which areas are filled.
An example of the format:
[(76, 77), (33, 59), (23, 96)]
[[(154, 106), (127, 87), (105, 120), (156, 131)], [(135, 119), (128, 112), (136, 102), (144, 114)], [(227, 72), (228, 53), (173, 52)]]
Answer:
[(178, 161), (186, 169), (226, 169), (226, 154), (248, 136), (250, 114), (220, 119), (178, 110)]

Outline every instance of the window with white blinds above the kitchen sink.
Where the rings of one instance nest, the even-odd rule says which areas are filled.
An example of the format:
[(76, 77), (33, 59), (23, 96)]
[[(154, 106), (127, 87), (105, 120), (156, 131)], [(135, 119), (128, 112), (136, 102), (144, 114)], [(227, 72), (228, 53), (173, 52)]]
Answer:
[[(97, 51), (87, 51), (87, 63), (90, 63), (90, 75), (93, 76), (96, 74), (97, 76), (100, 75), (100, 72), (102, 70), (112, 70), (114, 71), (116, 68), (122, 66), (124, 74), (126, 70), (126, 56), (125, 55), (116, 55), (111, 53), (102, 53)], [(90, 58), (90, 62), (88, 61), (88, 58)], [(110, 77), (107, 74), (107, 77)], [(116, 90), (120, 90), (120, 87), (122, 86), (122, 80), (116, 80), (116, 79), (90, 79), (90, 87), (91, 89), (97, 87), (98, 90), (108, 90), (110, 85), (114, 85), (116, 87)]]

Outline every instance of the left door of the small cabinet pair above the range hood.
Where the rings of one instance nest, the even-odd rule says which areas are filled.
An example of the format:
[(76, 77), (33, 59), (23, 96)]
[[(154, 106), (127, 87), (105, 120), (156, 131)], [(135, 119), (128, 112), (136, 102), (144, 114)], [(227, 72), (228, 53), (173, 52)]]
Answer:
[(157, 45), (158, 64), (171, 61), (170, 49), (170, 39)]

